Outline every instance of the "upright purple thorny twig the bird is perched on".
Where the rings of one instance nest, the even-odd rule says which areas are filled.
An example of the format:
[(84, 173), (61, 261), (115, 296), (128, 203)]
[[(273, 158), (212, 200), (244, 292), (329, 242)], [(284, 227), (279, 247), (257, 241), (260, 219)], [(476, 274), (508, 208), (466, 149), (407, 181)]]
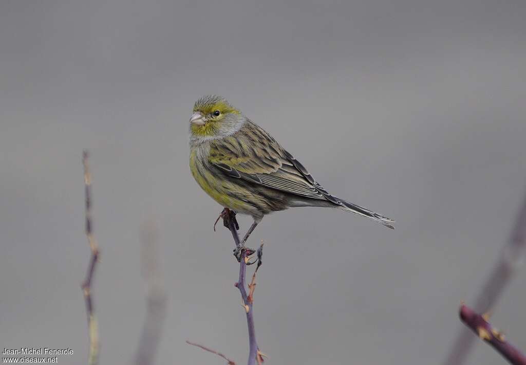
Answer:
[[(225, 208), (226, 214), (223, 216), (223, 223), (226, 228), (230, 230), (232, 233), (232, 237), (234, 238), (234, 242), (236, 243), (236, 248), (239, 248), (241, 243), (239, 241), (239, 235), (237, 234), (237, 229), (239, 229), (239, 225), (237, 224), (236, 220), (236, 213), (228, 210)], [(261, 255), (262, 255), (262, 244), (260, 249), (258, 250), (258, 266), (256, 268), (259, 269), (261, 265)], [(252, 251), (253, 253), (254, 251)], [(250, 253), (248, 254), (248, 256)], [(252, 282), (249, 286), (250, 290), (250, 297), (247, 294), (247, 290), (245, 288), (245, 277), (246, 277), (246, 270), (247, 270), (247, 262), (249, 260), (247, 256), (247, 250), (243, 249), (241, 251), (241, 260), (239, 260), (239, 279), (236, 283), (236, 287), (239, 289), (239, 292), (241, 293), (241, 299), (243, 300), (243, 307), (245, 308), (245, 313), (247, 315), (247, 325), (248, 325), (248, 340), (249, 340), (249, 354), (248, 354), (248, 365), (255, 365), (256, 361), (258, 364), (262, 363), (264, 361), (263, 354), (259, 351), (258, 344), (256, 342), (256, 330), (254, 328), (254, 313), (252, 311), (252, 305), (254, 304), (253, 301), (253, 294), (254, 294), (254, 288), (255, 288), (255, 279), (256, 279), (256, 272), (254, 272), (254, 275), (252, 275)]]

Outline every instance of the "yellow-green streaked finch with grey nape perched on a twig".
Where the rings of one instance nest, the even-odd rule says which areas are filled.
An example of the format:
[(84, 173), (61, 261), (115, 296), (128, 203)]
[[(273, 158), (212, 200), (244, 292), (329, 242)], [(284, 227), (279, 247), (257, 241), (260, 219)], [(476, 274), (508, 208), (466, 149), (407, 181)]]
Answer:
[(265, 215), (300, 206), (336, 208), (395, 229), (394, 220), (329, 194), (225, 97), (206, 95), (195, 102), (189, 136), (190, 171), (198, 185), (224, 208), (254, 220), (241, 246)]

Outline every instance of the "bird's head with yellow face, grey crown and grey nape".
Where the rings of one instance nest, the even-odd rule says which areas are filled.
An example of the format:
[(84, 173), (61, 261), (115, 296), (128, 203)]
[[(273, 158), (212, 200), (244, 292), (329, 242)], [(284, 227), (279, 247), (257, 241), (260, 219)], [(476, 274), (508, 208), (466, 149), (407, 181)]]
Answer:
[(239, 130), (246, 117), (224, 97), (206, 95), (194, 104), (190, 118), (190, 136), (195, 139), (217, 139)]

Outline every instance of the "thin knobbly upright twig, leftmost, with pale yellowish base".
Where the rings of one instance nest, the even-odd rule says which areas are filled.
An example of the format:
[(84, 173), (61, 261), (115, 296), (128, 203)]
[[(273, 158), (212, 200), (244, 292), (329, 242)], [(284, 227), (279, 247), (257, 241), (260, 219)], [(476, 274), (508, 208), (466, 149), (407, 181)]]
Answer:
[(84, 299), (86, 302), (86, 313), (88, 317), (88, 329), (89, 329), (89, 354), (88, 364), (96, 365), (98, 363), (99, 356), (99, 338), (98, 338), (98, 325), (97, 318), (95, 317), (95, 309), (93, 305), (92, 296), (92, 281), (95, 274), (95, 267), (99, 258), (99, 249), (97, 240), (93, 235), (93, 220), (92, 220), (92, 175), (89, 171), (88, 165), (88, 152), (84, 151), (82, 155), (82, 163), (84, 165), (84, 186), (86, 195), (86, 236), (88, 238), (89, 248), (92, 252), (92, 256), (89, 261), (88, 271), (86, 273), (86, 279), (82, 283), (82, 290), (84, 292)]

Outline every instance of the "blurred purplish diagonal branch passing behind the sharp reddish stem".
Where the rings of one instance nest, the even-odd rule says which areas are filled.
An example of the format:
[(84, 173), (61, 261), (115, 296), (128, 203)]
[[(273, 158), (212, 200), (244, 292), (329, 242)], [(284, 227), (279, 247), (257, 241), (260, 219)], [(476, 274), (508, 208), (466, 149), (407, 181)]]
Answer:
[[(487, 313), (495, 307), (504, 288), (523, 263), (525, 248), (526, 196), (524, 196), (522, 207), (517, 214), (517, 220), (513, 226), (509, 242), (503, 247), (497, 264), (484, 283), (475, 301), (474, 310), (477, 313)], [(464, 363), (473, 342), (474, 337), (463, 328), (454, 340), (451, 351), (446, 361), (444, 361), (444, 365), (461, 365)]]

